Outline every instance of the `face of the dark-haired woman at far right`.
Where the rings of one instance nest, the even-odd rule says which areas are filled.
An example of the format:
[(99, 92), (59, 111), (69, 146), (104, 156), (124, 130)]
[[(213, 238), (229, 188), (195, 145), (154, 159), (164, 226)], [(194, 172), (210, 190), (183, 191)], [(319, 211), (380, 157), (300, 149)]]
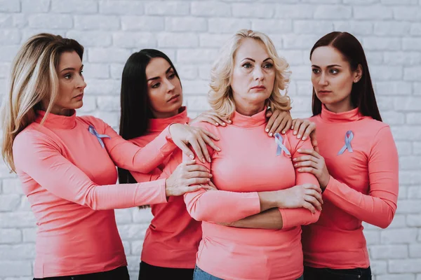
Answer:
[(352, 85), (361, 78), (361, 65), (352, 71), (347, 59), (330, 46), (316, 48), (312, 53), (311, 62), (312, 83), (321, 103), (330, 110), (351, 109)]

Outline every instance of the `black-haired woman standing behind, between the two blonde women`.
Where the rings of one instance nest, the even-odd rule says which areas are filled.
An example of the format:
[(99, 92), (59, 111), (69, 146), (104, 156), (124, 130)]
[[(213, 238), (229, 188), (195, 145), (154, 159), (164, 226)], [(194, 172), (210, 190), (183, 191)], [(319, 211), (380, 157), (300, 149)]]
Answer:
[[(187, 109), (182, 106), (182, 98), (178, 73), (163, 52), (152, 49), (135, 52), (128, 58), (121, 79), (121, 136), (138, 146), (145, 146), (171, 123), (204, 121), (217, 126), (230, 123), (213, 112), (190, 120)], [(288, 130), (290, 125), (288, 112), (275, 111), (265, 130), (272, 136)], [(301, 127), (303, 132), (306, 125)], [(303, 135), (308, 137), (309, 132)], [(210, 158), (201, 160), (210, 161)], [(119, 169), (119, 181), (134, 183), (166, 178), (181, 163), (182, 152), (174, 151), (150, 174)], [(192, 279), (201, 240), (201, 223), (189, 216), (180, 197), (166, 204), (152, 205), (152, 214), (154, 218), (143, 243), (139, 279)]]

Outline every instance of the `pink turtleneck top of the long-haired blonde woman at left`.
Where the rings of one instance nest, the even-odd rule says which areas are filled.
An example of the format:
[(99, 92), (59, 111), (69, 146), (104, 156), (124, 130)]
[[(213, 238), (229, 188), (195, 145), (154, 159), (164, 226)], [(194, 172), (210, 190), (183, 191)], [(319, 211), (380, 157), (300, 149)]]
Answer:
[(150, 172), (175, 150), (168, 130), (140, 149), (98, 118), (49, 113), (41, 125), (44, 115), (38, 111), (13, 142), (16, 172), (38, 225), (34, 276), (127, 265), (112, 209), (166, 202), (165, 180), (116, 185), (115, 166)]

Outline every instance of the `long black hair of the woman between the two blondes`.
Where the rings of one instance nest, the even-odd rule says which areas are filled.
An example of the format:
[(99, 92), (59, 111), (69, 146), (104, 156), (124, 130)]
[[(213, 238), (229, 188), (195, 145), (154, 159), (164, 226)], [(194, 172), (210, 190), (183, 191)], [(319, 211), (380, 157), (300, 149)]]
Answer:
[[(121, 76), (120, 94), (120, 132), (123, 139), (133, 139), (145, 135), (152, 111), (147, 95), (146, 66), (155, 57), (162, 57), (173, 67), (175, 76), (177, 71), (165, 53), (154, 49), (143, 49), (128, 57)], [(133, 176), (126, 169), (118, 169), (119, 183), (136, 183)]]

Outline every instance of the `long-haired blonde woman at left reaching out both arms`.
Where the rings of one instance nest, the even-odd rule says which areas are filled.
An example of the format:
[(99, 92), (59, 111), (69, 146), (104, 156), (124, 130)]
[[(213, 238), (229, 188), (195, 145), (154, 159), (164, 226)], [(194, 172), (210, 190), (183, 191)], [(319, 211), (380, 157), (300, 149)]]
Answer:
[[(197, 190), (189, 185), (206, 184), (210, 174), (191, 160), (168, 179), (116, 185), (115, 166), (151, 172), (175, 151), (174, 143), (218, 148), (213, 134), (174, 124), (141, 149), (102, 120), (76, 116), (86, 87), (82, 57), (83, 47), (72, 39), (29, 38), (13, 62), (2, 110), (2, 155), (22, 181), (38, 225), (35, 279), (128, 279), (112, 209), (166, 203)], [(207, 158), (206, 149), (196, 152)]]

